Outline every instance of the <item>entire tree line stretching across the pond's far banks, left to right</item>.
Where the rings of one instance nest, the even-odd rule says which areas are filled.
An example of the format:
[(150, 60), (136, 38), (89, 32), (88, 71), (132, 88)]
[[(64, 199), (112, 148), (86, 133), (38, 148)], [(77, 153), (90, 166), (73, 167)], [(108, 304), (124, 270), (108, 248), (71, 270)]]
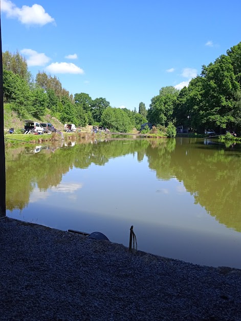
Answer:
[(92, 99), (86, 93), (70, 95), (56, 76), (45, 71), (33, 79), (25, 57), (18, 52), (3, 53), (3, 78), (4, 102), (10, 103), (21, 119), (41, 118), (48, 108), (62, 123), (78, 127), (101, 125), (128, 132), (149, 122), (160, 130), (169, 128), (172, 134), (179, 125), (200, 133), (208, 128), (218, 133), (241, 131), (241, 42), (203, 65), (201, 74), (188, 86), (181, 90), (162, 87), (159, 95), (151, 98), (149, 108), (141, 102), (138, 111), (136, 107), (111, 107), (105, 98)]

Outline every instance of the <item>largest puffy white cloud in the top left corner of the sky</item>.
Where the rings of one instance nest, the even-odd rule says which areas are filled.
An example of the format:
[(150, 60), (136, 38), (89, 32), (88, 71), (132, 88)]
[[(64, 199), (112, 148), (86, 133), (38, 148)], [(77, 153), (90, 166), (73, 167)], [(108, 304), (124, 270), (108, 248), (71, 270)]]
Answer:
[(2, 0), (1, 11), (7, 14), (9, 18), (17, 18), (24, 25), (39, 25), (44, 26), (52, 22), (52, 18), (42, 6), (34, 4), (32, 7), (23, 6), (18, 8), (10, 0)]

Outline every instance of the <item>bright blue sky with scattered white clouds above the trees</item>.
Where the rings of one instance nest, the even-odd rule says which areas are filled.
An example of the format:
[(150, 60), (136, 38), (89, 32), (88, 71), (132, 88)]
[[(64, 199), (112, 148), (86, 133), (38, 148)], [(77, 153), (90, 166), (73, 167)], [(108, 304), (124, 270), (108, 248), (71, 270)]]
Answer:
[(70, 94), (149, 108), (241, 41), (240, 0), (2, 0), (2, 50)]

